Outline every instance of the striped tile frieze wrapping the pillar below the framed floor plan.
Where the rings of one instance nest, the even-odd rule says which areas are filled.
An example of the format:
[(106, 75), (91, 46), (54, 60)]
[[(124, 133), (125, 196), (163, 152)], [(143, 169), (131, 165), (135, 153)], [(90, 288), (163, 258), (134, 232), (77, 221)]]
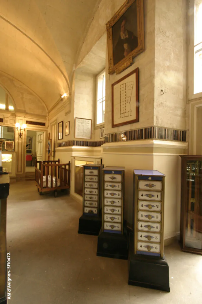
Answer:
[(105, 135), (105, 143), (141, 139), (176, 140), (186, 142), (186, 131), (153, 126)]

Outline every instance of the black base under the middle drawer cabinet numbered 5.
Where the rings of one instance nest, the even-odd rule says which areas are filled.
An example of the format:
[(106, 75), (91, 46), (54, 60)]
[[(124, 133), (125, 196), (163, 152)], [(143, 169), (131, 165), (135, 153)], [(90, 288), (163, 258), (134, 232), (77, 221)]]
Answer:
[(127, 260), (128, 246), (126, 235), (100, 231), (97, 243), (97, 256)]

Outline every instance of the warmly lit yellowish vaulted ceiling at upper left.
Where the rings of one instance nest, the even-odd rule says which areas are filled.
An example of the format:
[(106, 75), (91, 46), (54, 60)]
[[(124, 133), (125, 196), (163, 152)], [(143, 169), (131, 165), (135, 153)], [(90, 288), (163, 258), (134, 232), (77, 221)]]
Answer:
[(47, 110), (60, 94), (71, 93), (76, 59), (100, 1), (0, 0), (2, 81), (17, 80)]

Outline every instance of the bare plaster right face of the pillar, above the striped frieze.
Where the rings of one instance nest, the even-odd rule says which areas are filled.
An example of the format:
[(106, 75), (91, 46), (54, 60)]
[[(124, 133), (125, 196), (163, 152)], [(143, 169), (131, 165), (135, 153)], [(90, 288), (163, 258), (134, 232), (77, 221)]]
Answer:
[(186, 0), (156, 0), (156, 126), (186, 130), (186, 48)]

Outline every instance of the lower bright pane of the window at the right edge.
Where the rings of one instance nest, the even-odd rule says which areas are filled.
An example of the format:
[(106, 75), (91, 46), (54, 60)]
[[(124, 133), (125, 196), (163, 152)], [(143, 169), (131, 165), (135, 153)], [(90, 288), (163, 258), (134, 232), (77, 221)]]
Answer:
[(194, 94), (202, 92), (202, 43), (194, 48)]

